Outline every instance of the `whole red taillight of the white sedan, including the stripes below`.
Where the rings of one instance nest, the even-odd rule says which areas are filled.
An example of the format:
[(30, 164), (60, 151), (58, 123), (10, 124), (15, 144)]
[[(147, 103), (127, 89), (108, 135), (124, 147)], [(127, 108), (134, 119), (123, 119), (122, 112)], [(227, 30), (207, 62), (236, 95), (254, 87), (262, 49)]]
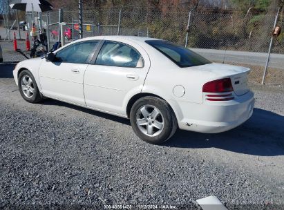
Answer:
[[(231, 85), (231, 79), (217, 79), (204, 84), (202, 92), (205, 93), (208, 101), (229, 101), (234, 99), (233, 86)], [(208, 94), (207, 94), (208, 93)], [(212, 94), (214, 93), (214, 94)], [(226, 93), (226, 94), (222, 94)]]

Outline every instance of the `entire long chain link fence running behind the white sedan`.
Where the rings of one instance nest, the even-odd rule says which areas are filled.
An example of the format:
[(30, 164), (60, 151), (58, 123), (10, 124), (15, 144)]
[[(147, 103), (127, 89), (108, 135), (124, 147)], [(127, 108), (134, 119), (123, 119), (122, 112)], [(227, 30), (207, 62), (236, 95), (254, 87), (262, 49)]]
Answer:
[[(65, 22), (66, 42), (79, 39), (78, 10), (44, 12), (42, 26), (48, 28), (49, 45), (59, 41), (59, 23)], [(163, 12), (149, 8), (97, 8), (83, 11), (83, 37), (133, 35), (167, 39), (189, 48), (240, 50), (267, 53), (276, 11)], [(26, 14), (31, 26), (31, 13)], [(37, 15), (35, 22), (37, 23)], [(187, 30), (188, 26), (188, 30)], [(284, 53), (284, 35), (274, 40), (272, 53)]]

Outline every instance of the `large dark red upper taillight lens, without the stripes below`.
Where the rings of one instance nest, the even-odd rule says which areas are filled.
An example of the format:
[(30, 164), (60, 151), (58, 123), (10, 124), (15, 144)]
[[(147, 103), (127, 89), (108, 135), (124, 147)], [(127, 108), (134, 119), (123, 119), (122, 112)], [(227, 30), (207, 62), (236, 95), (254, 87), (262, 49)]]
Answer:
[(204, 84), (202, 92), (205, 93), (226, 93), (234, 91), (233, 86), (231, 85), (231, 79), (217, 79), (211, 82)]

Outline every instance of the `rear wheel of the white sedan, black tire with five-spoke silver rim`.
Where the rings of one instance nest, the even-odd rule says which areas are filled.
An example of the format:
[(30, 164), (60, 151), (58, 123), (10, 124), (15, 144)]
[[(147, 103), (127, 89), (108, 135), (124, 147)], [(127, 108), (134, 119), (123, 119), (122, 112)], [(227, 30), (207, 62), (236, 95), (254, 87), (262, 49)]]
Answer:
[(131, 126), (142, 140), (162, 144), (176, 133), (178, 122), (171, 106), (158, 97), (142, 97), (130, 112)]

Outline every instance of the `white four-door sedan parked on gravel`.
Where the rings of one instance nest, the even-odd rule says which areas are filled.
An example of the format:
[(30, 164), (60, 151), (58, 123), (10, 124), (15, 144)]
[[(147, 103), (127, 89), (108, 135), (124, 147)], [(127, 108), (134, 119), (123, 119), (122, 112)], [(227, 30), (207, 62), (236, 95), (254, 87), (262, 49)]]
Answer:
[(252, 116), (249, 68), (214, 64), (191, 50), (146, 37), (88, 37), (14, 70), (23, 99), (44, 97), (130, 118), (160, 144), (179, 127), (220, 133)]

